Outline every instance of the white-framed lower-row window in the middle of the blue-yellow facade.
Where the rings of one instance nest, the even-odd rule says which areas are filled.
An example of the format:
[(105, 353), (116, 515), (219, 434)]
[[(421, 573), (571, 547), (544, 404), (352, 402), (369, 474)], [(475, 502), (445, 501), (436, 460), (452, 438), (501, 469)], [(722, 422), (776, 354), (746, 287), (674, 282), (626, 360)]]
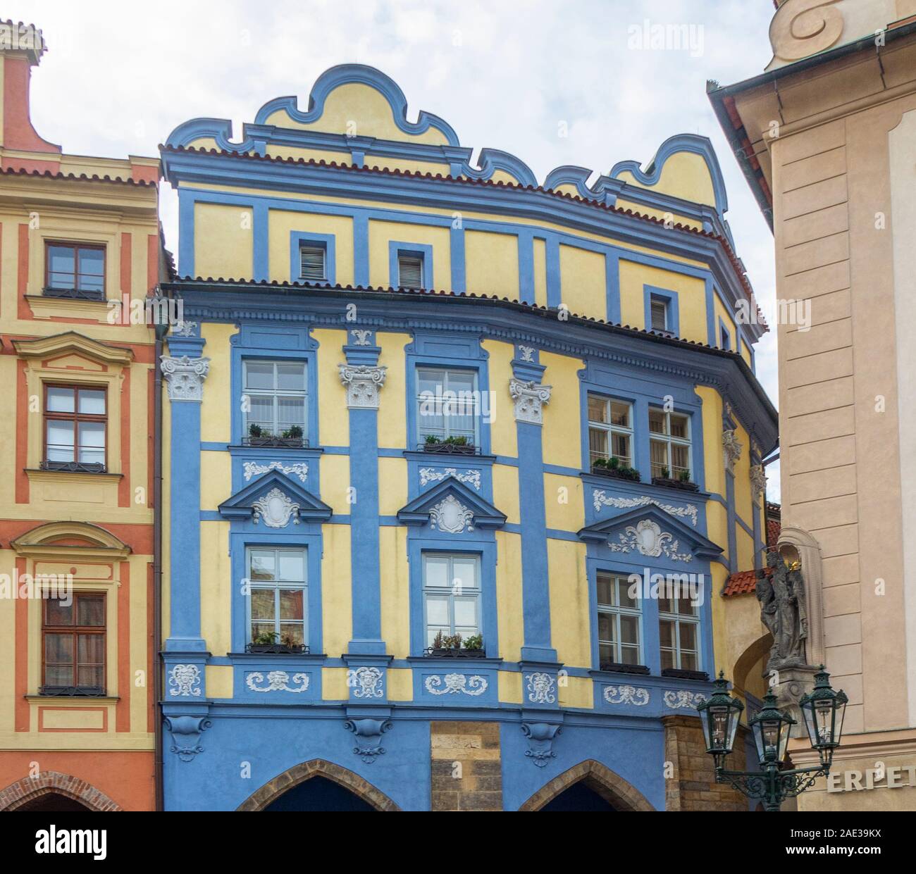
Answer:
[(423, 554), (423, 616), (426, 645), (437, 636), (480, 634), (480, 559), (478, 556)]

